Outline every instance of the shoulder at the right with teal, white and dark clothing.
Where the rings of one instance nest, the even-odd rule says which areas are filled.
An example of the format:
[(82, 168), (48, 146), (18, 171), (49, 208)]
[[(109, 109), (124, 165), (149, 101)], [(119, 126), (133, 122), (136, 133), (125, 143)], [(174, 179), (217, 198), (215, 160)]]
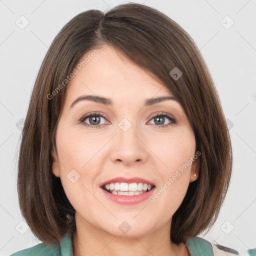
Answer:
[(239, 255), (238, 251), (222, 246), (212, 244), (201, 237), (190, 237), (186, 241), (186, 246), (191, 256), (232, 256)]

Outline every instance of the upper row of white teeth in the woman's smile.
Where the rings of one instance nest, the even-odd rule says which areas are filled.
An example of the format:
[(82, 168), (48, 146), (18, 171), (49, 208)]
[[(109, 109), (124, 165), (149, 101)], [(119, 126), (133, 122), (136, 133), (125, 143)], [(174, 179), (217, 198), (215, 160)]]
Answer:
[(120, 190), (120, 191), (146, 191), (150, 190), (153, 186), (146, 183), (125, 183), (125, 182), (115, 182), (104, 185), (107, 190)]

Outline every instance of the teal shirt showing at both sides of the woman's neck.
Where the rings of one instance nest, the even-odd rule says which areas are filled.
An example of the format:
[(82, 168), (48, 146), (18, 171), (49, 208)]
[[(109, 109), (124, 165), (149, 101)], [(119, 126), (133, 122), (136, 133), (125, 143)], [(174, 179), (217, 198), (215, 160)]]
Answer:
[[(201, 237), (191, 237), (187, 239), (186, 246), (190, 256), (213, 256), (212, 245), (209, 241)], [(45, 243), (36, 244), (30, 248), (19, 250), (10, 256), (73, 256), (71, 234), (66, 233), (60, 242), (47, 245)]]

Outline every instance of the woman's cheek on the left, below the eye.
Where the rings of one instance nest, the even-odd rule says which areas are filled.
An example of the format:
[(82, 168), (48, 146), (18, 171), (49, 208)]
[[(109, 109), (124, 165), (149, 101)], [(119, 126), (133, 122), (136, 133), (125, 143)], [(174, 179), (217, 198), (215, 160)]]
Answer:
[(90, 192), (93, 192), (93, 180), (97, 173), (92, 171), (93, 160), (90, 159), (95, 155), (94, 150), (98, 147), (88, 137), (84, 138), (75, 131), (65, 129), (64, 125), (56, 135), (56, 146), (61, 162), (59, 164), (61, 184), (76, 211), (81, 210), (81, 201), (85, 205), (90, 202), (92, 207), (96, 203)]

